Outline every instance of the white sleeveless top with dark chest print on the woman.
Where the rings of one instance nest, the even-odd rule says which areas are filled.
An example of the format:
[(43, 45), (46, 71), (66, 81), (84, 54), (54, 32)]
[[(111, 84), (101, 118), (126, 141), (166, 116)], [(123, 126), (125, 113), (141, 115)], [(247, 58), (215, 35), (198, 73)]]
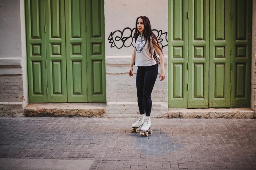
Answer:
[(153, 53), (155, 48), (152, 43), (152, 37), (150, 37), (150, 48), (152, 52), (152, 56), (150, 56), (148, 49), (148, 40), (145, 44), (144, 36), (139, 35), (137, 41), (135, 42), (135, 66), (153, 66), (157, 64), (153, 57)]

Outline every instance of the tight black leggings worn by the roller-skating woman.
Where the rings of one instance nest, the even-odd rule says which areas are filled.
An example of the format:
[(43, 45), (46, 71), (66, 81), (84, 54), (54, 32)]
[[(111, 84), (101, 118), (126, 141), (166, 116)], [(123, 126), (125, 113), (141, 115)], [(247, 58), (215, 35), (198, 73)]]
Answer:
[(152, 101), (151, 93), (157, 79), (158, 66), (157, 64), (153, 66), (138, 66), (136, 75), (136, 87), (137, 87), (137, 97), (139, 114), (144, 114), (150, 116)]

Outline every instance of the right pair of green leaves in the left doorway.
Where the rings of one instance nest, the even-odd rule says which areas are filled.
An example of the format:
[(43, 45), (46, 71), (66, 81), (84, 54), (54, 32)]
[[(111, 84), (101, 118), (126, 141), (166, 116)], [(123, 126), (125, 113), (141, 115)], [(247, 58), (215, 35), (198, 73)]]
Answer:
[(68, 102), (106, 102), (103, 0), (66, 0)]

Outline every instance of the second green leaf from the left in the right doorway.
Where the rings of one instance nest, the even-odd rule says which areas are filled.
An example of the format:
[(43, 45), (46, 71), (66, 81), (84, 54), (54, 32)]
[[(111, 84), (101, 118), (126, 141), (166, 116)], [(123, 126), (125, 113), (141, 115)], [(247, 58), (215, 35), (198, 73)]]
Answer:
[(188, 107), (208, 107), (209, 0), (189, 0)]

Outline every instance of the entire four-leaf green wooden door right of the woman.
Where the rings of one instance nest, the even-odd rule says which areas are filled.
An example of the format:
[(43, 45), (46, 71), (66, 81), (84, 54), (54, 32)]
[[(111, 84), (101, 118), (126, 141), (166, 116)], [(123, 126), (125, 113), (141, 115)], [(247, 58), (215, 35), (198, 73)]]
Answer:
[(168, 16), (168, 107), (249, 107), (252, 1), (169, 0)]

